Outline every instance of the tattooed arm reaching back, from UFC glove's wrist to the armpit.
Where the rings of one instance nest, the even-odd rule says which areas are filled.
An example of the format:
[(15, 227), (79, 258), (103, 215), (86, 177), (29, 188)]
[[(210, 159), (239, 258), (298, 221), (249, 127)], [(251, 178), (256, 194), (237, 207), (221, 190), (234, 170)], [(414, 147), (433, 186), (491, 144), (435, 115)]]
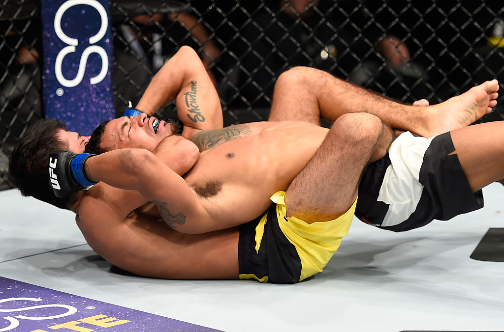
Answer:
[[(163, 220), (184, 233), (209, 231), (210, 215), (185, 181), (146, 149), (117, 149), (88, 158), (87, 179), (136, 190), (158, 207)], [(128, 179), (128, 181), (124, 181)]]

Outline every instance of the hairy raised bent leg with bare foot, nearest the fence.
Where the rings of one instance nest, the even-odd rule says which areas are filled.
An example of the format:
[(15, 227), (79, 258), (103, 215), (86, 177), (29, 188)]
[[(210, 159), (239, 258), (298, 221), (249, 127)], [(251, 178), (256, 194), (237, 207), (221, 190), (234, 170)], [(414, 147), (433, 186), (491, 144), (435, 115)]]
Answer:
[(403, 105), (358, 88), (314, 68), (294, 67), (282, 73), (275, 85), (269, 121), (334, 122), (351, 112), (373, 114), (392, 128), (431, 137), (462, 128), (496, 105), (498, 82), (487, 81), (444, 103)]

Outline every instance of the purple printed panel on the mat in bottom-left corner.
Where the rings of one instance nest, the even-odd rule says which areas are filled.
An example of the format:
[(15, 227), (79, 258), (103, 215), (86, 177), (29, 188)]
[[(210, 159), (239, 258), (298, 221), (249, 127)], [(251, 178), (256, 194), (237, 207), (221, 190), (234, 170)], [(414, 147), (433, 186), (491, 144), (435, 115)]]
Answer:
[(0, 277), (0, 332), (218, 331)]

